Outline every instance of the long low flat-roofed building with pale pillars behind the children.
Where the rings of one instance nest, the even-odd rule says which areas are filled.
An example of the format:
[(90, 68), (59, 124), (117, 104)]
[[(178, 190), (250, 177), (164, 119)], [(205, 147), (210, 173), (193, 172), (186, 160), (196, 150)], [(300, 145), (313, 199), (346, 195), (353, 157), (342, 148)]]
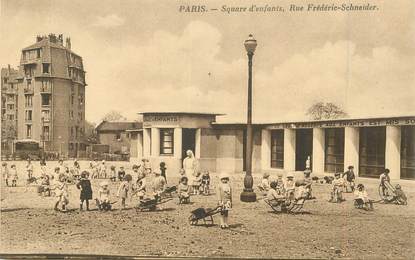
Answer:
[[(212, 172), (245, 170), (244, 124), (218, 124), (216, 114), (143, 113), (132, 130), (131, 160), (166, 162), (178, 172), (186, 150)], [(415, 116), (255, 124), (253, 171), (312, 171), (330, 174), (355, 167), (377, 178), (385, 168), (393, 179), (415, 179)]]

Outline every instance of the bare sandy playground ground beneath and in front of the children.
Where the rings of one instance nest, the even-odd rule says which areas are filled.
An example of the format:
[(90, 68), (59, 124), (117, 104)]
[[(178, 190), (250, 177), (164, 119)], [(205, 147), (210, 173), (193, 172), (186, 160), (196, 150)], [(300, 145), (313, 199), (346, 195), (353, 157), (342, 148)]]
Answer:
[[(38, 168), (36, 162), (36, 169)], [(50, 163), (52, 168), (55, 163)], [(82, 162), (81, 166), (86, 166)], [(127, 163), (114, 163), (125, 165)], [(24, 165), (19, 163), (18, 168)], [(36, 171), (35, 169), (35, 171)], [(22, 173), (23, 174), (23, 173)], [(23, 174), (24, 175), (24, 174)], [(232, 176), (234, 207), (231, 228), (191, 226), (190, 211), (214, 207), (215, 195), (193, 196), (191, 204), (178, 205), (177, 198), (156, 212), (136, 212), (136, 201), (125, 211), (78, 210), (79, 191), (70, 186), (70, 212), (52, 210), (53, 198), (36, 194), (25, 186), (24, 176), (16, 188), (2, 188), (0, 254), (50, 253), (98, 255), (210, 256), (255, 258), (360, 258), (414, 259), (415, 182), (400, 181), (409, 205), (375, 204), (375, 211), (355, 209), (353, 195), (341, 204), (327, 202), (330, 186), (313, 186), (316, 200), (307, 201), (306, 214), (275, 214), (261, 200), (243, 203), (239, 194), (243, 175)], [(272, 175), (272, 177), (275, 177)], [(178, 177), (169, 176), (169, 184)], [(259, 176), (255, 176), (258, 183)], [(212, 182), (218, 182), (213, 174)], [(93, 180), (97, 191), (99, 180)], [(377, 180), (358, 179), (378, 199)], [(111, 186), (115, 195), (117, 183)], [(95, 195), (94, 195), (95, 197)], [(114, 196), (114, 200), (117, 200)]]

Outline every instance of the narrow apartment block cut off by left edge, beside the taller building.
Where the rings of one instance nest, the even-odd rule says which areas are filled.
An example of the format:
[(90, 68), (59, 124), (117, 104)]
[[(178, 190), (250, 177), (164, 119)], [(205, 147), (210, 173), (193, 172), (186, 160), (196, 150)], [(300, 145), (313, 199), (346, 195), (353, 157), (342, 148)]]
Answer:
[(17, 89), (21, 80), (15, 69), (1, 69), (1, 150), (2, 154), (13, 151), (13, 141), (17, 138)]

